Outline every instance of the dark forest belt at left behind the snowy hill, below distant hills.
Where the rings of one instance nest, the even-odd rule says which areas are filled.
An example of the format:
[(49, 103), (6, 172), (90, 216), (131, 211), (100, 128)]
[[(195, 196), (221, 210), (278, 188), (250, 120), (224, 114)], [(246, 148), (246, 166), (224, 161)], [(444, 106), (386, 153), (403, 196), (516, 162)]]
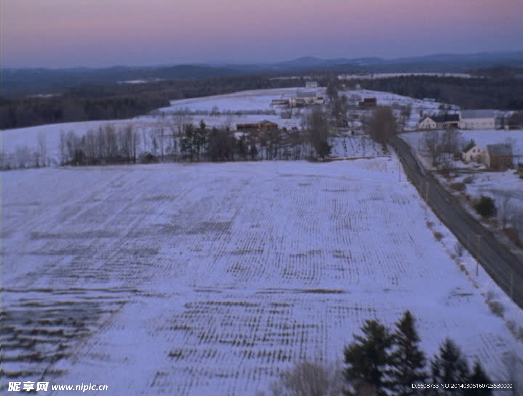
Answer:
[[(51, 96), (0, 96), (0, 129), (48, 123), (125, 119), (169, 106), (169, 100), (218, 95), (247, 89), (289, 87), (296, 81), (266, 75), (202, 80), (74, 87)], [(298, 84), (305, 84), (298, 81)]]

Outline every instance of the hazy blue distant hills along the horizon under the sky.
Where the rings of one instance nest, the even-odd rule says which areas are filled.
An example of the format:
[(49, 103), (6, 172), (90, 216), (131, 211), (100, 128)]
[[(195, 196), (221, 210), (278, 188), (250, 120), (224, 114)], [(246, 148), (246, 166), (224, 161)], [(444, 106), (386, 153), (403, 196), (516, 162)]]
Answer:
[(432, 54), (407, 58), (337, 58), (314, 56), (276, 63), (225, 65), (163, 65), (105, 69), (3, 69), (2, 94), (47, 94), (68, 88), (116, 84), (126, 81), (195, 80), (247, 74), (308, 72), (464, 72), (496, 67), (523, 67), (523, 51), (473, 54)]

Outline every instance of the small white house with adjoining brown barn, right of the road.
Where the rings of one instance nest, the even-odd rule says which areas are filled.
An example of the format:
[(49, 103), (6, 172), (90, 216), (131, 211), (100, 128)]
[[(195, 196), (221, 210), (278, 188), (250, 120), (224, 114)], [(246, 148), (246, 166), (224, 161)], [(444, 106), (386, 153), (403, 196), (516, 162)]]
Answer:
[(487, 144), (483, 149), (473, 140), (461, 153), (463, 162), (485, 164), (491, 169), (511, 168), (514, 162), (512, 145), (508, 143)]

